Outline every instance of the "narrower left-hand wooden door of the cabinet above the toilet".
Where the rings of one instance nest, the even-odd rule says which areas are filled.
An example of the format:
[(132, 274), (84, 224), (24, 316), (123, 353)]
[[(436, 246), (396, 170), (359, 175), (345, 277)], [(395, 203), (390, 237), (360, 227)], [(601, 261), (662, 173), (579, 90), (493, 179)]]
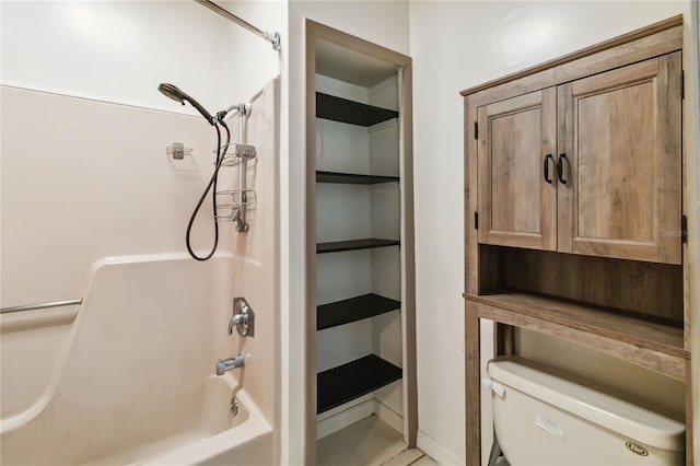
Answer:
[(555, 88), (477, 109), (479, 243), (557, 248), (556, 115)]

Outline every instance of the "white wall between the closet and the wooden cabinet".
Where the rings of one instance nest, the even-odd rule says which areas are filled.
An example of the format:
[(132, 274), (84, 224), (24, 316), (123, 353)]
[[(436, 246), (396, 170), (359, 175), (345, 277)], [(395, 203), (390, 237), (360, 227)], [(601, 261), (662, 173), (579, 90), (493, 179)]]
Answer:
[[(688, 13), (690, 2), (411, 1), (409, 11), (419, 435), (442, 464), (458, 464), (465, 458), (464, 117), (458, 92)], [(488, 352), (491, 331), (485, 327)]]

